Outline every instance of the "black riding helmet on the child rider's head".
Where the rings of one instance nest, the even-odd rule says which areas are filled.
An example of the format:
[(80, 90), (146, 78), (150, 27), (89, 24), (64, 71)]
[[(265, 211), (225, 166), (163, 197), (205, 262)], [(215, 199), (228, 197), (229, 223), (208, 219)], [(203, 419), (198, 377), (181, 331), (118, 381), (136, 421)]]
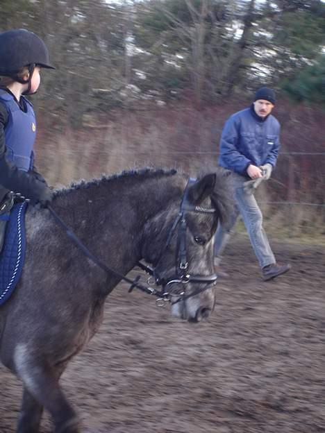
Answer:
[[(17, 76), (20, 68), (28, 67), (29, 79), (22, 80)], [(42, 39), (35, 33), (18, 28), (0, 33), (0, 75), (10, 76), (22, 84), (31, 83), (35, 66), (56, 69), (49, 65), (49, 51)]]

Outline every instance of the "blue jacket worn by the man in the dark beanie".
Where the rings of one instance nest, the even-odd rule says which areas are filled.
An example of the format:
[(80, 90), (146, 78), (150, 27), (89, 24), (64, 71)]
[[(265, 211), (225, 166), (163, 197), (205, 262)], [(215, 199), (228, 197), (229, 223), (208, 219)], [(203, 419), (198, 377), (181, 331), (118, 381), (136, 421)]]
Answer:
[(266, 119), (250, 108), (236, 112), (226, 121), (220, 139), (219, 165), (246, 175), (249, 164), (276, 165), (280, 124), (272, 114)]

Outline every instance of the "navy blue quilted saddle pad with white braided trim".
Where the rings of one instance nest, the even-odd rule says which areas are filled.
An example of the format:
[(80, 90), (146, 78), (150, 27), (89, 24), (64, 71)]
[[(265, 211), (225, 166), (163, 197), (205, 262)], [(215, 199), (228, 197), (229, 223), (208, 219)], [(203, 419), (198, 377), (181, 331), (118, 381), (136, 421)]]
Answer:
[(15, 289), (25, 260), (24, 215), (27, 203), (12, 207), (6, 236), (0, 255), (0, 305), (5, 303)]

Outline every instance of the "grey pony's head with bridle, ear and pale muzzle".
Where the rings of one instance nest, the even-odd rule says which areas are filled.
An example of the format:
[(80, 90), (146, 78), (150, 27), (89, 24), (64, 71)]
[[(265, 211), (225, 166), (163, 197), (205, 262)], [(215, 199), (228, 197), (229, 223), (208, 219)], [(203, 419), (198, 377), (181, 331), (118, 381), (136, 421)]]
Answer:
[(156, 214), (144, 228), (143, 257), (172, 303), (172, 314), (199, 322), (215, 306), (213, 241), (227, 224), (231, 193), (224, 171), (190, 179), (181, 201)]

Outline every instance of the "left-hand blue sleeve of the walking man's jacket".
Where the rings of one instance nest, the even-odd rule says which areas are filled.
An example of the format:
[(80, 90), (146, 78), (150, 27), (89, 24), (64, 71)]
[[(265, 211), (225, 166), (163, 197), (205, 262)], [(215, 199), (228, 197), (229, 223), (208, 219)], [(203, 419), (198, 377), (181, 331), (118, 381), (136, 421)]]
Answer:
[(240, 120), (230, 117), (220, 139), (220, 160), (226, 168), (236, 173), (245, 174), (251, 161), (238, 151), (238, 142), (240, 140)]

